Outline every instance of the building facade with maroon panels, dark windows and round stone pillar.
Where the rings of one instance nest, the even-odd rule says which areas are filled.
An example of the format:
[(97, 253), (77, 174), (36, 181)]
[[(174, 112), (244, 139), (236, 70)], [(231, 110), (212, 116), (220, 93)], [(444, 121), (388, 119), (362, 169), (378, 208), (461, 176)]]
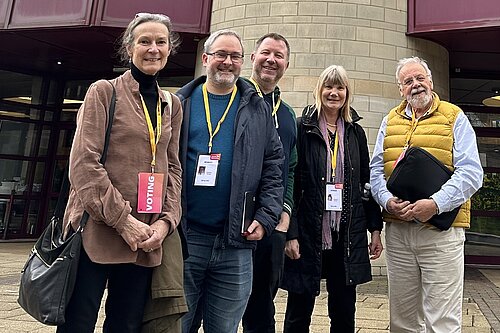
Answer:
[(500, 90), (496, 1), (478, 0), (474, 10), (465, 0), (66, 0), (62, 9), (60, 4), (0, 0), (0, 239), (36, 238), (46, 225), (76, 111), (91, 82), (124, 70), (114, 57), (114, 41), (137, 12), (169, 15), (182, 37), (180, 53), (160, 75), (168, 89), (202, 74), (204, 39), (218, 29), (243, 37), (245, 76), (261, 35), (287, 37), (292, 53), (280, 88), (298, 115), (313, 103), (321, 71), (344, 66), (370, 150), (382, 118), (400, 102), (398, 59), (426, 59), (436, 92), (462, 106), (478, 135), (487, 186), (474, 200), (471, 239), (478, 234), (480, 243), (487, 235), (494, 243), (500, 236), (500, 109), (483, 104)]

